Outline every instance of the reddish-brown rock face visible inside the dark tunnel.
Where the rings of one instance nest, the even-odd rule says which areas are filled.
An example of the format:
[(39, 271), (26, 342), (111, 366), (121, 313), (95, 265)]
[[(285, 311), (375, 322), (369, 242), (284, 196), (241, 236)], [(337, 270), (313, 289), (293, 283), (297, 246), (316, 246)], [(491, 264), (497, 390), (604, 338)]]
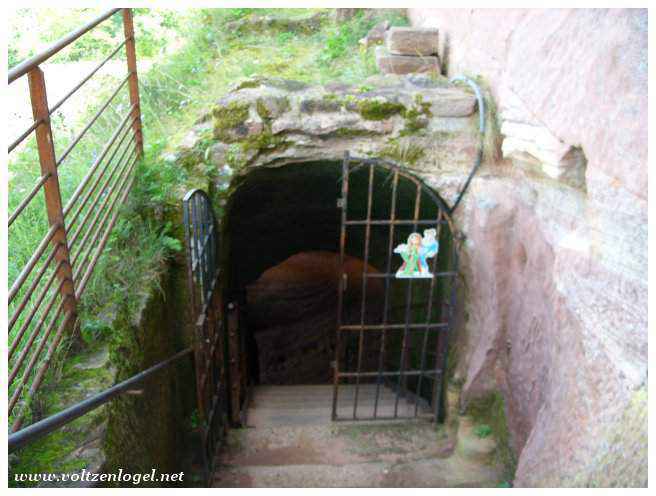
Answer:
[[(346, 256), (344, 271), (352, 284), (344, 295), (344, 323), (360, 321), (363, 268), (362, 260)], [(268, 269), (248, 286), (249, 328), (257, 342), (262, 384), (332, 381), (339, 271), (338, 253), (303, 252)], [(377, 271), (369, 266), (367, 272)], [(381, 281), (374, 280), (367, 293), (376, 304), (368, 305), (366, 313), (378, 317), (384, 293)], [(370, 320), (367, 315), (365, 321)], [(379, 346), (375, 340), (367, 345), (363, 367), (371, 370)]]

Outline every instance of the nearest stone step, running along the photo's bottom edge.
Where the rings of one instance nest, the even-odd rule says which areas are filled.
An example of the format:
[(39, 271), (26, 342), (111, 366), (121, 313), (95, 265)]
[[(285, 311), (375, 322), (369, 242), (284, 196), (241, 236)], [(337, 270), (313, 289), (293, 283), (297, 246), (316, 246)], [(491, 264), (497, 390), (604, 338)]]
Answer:
[(497, 487), (490, 467), (457, 457), (409, 463), (223, 466), (214, 487)]

